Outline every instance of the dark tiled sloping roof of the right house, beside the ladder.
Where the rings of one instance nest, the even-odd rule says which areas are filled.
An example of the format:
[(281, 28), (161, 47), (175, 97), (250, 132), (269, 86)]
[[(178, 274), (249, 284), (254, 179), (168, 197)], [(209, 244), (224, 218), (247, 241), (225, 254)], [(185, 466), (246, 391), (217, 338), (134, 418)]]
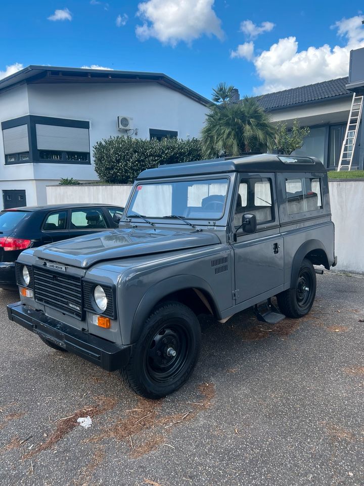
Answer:
[(352, 93), (345, 88), (347, 83), (347, 76), (339, 77), (338, 79), (331, 79), (330, 81), (323, 81), (313, 85), (267, 93), (257, 97), (257, 101), (265, 111), (273, 111), (342, 96), (352, 96)]

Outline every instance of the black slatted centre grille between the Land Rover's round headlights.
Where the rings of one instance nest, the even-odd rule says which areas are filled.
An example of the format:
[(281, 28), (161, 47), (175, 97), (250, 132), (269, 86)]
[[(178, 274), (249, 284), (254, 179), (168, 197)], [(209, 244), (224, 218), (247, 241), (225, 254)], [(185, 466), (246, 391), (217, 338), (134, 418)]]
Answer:
[(82, 319), (80, 277), (34, 266), (33, 281), (36, 302)]

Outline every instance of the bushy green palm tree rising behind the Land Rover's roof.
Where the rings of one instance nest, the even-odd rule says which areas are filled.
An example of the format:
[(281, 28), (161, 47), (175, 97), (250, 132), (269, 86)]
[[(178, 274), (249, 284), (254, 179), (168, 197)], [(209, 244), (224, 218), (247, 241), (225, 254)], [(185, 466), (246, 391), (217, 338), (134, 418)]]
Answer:
[(269, 116), (254, 98), (246, 96), (238, 103), (231, 102), (233, 88), (220, 83), (213, 90), (216, 104), (210, 105), (201, 132), (202, 151), (207, 158), (262, 151), (274, 144), (276, 129)]

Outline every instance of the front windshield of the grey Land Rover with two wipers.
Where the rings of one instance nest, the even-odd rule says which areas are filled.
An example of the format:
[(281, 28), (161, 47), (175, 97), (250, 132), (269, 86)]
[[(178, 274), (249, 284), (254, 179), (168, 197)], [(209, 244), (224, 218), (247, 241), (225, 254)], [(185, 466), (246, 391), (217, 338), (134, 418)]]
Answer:
[(138, 184), (126, 216), (220, 219), (228, 187), (229, 179)]

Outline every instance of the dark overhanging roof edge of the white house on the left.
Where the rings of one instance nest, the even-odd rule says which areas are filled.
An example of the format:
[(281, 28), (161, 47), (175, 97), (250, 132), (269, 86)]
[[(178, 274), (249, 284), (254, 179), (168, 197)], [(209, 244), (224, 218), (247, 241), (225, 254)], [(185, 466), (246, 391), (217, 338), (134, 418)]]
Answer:
[(17, 84), (75, 84), (75, 83), (158, 83), (162, 86), (208, 106), (211, 101), (162, 72), (117, 71), (114, 69), (88, 69), (30, 65), (21, 71), (0, 79), (0, 91)]

